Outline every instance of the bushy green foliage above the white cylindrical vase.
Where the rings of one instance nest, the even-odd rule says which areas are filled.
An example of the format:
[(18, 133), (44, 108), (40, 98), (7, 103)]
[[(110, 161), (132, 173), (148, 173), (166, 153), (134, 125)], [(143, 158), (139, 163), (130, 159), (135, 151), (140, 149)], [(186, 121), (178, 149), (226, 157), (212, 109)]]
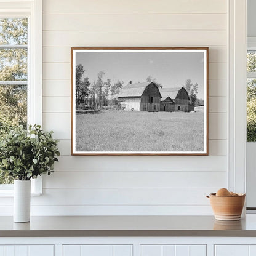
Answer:
[(58, 140), (52, 132), (44, 132), (41, 126), (23, 126), (10, 130), (0, 142), (0, 170), (15, 180), (30, 180), (38, 175), (54, 172), (54, 162), (60, 156)]

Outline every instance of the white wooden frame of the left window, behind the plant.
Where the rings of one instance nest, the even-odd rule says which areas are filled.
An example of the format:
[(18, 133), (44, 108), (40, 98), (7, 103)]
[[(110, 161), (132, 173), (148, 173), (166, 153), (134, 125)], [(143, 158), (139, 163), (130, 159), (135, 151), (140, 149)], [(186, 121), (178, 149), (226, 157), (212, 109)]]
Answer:
[[(0, 18), (28, 18), (27, 119), (42, 124), (42, 0), (0, 0)], [(13, 185), (0, 185), (0, 197), (13, 193)], [(31, 180), (31, 193), (42, 193), (41, 177)]]

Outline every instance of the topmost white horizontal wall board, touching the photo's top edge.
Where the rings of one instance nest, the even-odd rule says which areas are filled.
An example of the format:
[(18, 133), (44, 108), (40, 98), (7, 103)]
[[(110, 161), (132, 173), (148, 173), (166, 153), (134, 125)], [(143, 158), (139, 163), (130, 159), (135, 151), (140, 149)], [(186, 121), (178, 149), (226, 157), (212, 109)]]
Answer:
[(223, 0), (179, 0), (172, 1), (81, 1), (44, 0), (44, 14), (148, 14), (148, 13), (226, 13), (227, 2)]

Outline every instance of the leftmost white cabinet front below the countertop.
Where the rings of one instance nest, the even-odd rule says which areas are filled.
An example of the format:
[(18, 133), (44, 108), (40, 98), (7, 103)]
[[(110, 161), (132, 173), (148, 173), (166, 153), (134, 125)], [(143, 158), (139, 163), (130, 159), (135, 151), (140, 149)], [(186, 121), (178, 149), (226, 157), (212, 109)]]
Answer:
[(0, 256), (54, 256), (54, 245), (0, 246)]

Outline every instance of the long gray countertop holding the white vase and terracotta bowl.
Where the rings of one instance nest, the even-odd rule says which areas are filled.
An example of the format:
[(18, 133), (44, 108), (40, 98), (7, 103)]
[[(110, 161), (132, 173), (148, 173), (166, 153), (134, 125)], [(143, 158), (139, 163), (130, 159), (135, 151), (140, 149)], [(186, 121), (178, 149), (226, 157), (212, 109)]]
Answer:
[(256, 215), (231, 222), (213, 216), (34, 216), (14, 223), (0, 217), (0, 237), (12, 236), (256, 236)]

